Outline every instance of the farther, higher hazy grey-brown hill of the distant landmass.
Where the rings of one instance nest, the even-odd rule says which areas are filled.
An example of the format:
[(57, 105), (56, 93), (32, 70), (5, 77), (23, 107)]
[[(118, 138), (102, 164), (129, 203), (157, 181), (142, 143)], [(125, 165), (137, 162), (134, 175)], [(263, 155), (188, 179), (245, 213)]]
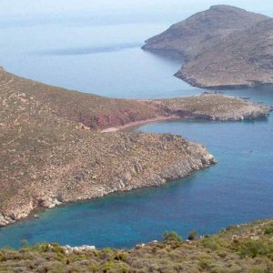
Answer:
[(190, 60), (217, 45), (227, 35), (266, 19), (268, 17), (265, 15), (250, 13), (234, 6), (214, 5), (148, 39), (143, 49), (176, 52)]

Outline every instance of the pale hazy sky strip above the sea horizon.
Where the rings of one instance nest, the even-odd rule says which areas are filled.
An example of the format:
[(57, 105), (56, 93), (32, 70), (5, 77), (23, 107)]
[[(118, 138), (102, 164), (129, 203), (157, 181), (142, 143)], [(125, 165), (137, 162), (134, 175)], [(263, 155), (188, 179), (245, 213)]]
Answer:
[(237, 5), (251, 11), (273, 15), (272, 0), (0, 0), (0, 16), (29, 19), (38, 15), (98, 14), (189, 14), (209, 5)]

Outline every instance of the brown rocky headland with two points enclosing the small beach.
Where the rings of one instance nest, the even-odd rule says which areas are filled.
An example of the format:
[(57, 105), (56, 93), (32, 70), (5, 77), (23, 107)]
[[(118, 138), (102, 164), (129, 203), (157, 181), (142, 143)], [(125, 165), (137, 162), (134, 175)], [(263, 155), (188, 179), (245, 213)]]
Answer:
[(46, 86), (3, 68), (0, 94), (1, 226), (37, 207), (159, 186), (216, 162), (206, 147), (181, 136), (104, 129), (154, 118), (257, 118), (270, 111), (219, 95), (106, 98)]

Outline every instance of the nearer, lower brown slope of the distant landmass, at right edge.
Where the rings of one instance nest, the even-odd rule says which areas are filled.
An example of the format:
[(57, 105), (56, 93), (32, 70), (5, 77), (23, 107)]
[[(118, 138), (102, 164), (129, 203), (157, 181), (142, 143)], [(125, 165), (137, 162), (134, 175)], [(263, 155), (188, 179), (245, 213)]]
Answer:
[(228, 35), (177, 72), (193, 86), (230, 88), (273, 83), (273, 19)]

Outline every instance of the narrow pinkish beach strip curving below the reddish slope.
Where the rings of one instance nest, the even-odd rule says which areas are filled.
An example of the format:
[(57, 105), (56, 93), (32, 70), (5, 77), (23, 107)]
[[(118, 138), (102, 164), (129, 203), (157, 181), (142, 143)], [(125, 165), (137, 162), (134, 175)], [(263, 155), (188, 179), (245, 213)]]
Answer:
[(117, 131), (124, 130), (126, 128), (141, 126), (148, 123), (167, 121), (167, 120), (177, 120), (177, 119), (181, 119), (181, 117), (180, 116), (157, 116), (157, 117), (147, 118), (143, 120), (132, 121), (123, 126), (109, 127), (109, 128), (103, 129), (101, 133), (117, 132)]

